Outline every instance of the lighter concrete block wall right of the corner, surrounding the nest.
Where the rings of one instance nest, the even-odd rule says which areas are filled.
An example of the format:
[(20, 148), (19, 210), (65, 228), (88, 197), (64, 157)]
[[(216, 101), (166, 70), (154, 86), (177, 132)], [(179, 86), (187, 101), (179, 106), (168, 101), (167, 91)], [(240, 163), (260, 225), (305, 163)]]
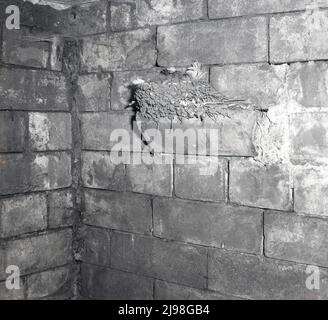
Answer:
[[(76, 99), (82, 296), (327, 299), (328, 2), (128, 0), (107, 10), (107, 32), (83, 38)], [(247, 134), (236, 144), (223, 130), (217, 157), (114, 164), (111, 133), (133, 136), (132, 81), (195, 60), (220, 92), (268, 110), (253, 148), (237, 115)], [(209, 163), (216, 174), (199, 175)], [(309, 265), (320, 290), (306, 288)]]

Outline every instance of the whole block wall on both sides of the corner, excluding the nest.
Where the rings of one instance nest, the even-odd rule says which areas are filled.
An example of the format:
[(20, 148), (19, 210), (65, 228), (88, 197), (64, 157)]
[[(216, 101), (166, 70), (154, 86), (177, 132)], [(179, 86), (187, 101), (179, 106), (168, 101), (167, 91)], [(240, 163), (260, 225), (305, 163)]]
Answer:
[[(327, 299), (328, 2), (307, 4), (103, 0), (4, 30), (0, 225), (12, 230), (0, 231), (7, 262), (27, 252), (20, 297), (61, 283), (73, 223), (85, 299)], [(193, 164), (113, 162), (111, 133), (134, 135), (132, 81), (194, 60), (217, 90), (267, 109), (255, 129), (242, 113), (223, 120), (219, 153)], [(27, 219), (20, 202), (39, 209)], [(41, 259), (44, 237), (58, 254)], [(305, 286), (309, 265), (320, 290)]]

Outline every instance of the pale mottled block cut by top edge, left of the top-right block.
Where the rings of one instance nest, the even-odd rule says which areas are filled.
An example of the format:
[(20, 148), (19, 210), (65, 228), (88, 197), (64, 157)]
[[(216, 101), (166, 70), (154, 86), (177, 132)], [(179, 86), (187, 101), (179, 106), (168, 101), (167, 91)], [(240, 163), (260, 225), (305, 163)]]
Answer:
[(125, 30), (149, 25), (197, 20), (205, 17), (204, 0), (116, 0), (111, 2), (111, 28)]

